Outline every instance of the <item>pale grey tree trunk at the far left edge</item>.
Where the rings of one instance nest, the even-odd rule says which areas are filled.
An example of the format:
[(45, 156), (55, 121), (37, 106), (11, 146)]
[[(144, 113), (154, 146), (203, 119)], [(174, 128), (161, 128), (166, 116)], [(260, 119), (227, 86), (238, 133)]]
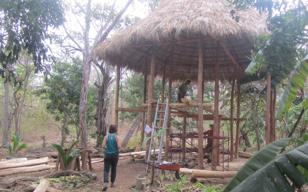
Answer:
[(8, 141), (8, 131), (9, 131), (9, 103), (10, 103), (10, 83), (9, 80), (4, 84), (4, 110), (3, 110), (3, 140), (2, 146)]

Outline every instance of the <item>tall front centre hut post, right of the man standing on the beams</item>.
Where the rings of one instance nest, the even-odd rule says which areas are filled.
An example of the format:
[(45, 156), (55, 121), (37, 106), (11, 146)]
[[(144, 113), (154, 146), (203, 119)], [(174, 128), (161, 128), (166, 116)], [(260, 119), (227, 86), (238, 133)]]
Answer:
[(203, 36), (199, 40), (199, 67), (198, 67), (198, 169), (203, 169), (203, 100), (202, 100), (202, 81), (203, 81)]

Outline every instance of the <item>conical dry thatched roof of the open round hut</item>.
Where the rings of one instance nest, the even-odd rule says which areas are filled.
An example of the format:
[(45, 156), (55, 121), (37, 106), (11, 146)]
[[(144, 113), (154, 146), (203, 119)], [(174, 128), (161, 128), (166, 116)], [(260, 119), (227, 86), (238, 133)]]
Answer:
[[(204, 79), (214, 80), (217, 40), (227, 46), (242, 70), (249, 65), (254, 38), (265, 32), (264, 14), (256, 10), (239, 12), (240, 22), (230, 15), (224, 0), (161, 0), (160, 6), (140, 22), (116, 33), (95, 50), (99, 60), (142, 73), (156, 45), (156, 75), (170, 75), (170, 56), (175, 45), (174, 80), (197, 80), (198, 42), (204, 37)], [(173, 45), (172, 45), (173, 44)], [(220, 80), (231, 80), (234, 63), (220, 46)], [(148, 56), (147, 56), (148, 55)], [(194, 61), (192, 61), (194, 60)], [(146, 63), (146, 64), (145, 64)]]

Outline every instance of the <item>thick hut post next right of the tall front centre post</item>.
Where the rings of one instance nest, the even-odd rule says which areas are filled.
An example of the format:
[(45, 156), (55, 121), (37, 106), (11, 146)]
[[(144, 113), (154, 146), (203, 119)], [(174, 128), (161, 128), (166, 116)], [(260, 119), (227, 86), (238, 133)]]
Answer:
[[(214, 86), (214, 129), (213, 136), (219, 136), (219, 118), (218, 118), (218, 102), (219, 102), (219, 54), (220, 54), (220, 41), (217, 40), (216, 50), (216, 66), (215, 66), (215, 86)], [(213, 146), (218, 145), (219, 140), (213, 139)], [(219, 163), (219, 147), (213, 149), (213, 159)], [(212, 161), (212, 170), (217, 167), (217, 164)]]

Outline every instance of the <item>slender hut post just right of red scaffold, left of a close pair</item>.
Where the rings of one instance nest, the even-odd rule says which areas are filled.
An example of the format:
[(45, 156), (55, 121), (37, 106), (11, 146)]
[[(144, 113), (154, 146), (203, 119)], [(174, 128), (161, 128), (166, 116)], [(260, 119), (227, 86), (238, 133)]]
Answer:
[(237, 66), (234, 65), (234, 75), (231, 85), (231, 102), (230, 102), (230, 161), (233, 161), (234, 159), (234, 139), (233, 139), (233, 108), (234, 108), (234, 87), (235, 87), (235, 80), (236, 80), (236, 72), (237, 72)]

